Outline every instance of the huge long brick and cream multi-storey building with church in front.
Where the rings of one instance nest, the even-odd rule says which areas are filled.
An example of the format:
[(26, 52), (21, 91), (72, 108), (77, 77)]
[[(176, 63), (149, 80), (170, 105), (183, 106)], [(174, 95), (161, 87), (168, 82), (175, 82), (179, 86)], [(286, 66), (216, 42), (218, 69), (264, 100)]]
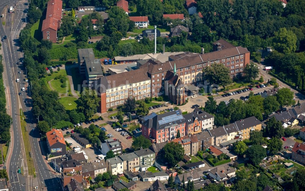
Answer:
[(205, 54), (169, 56), (169, 61), (164, 63), (148, 61), (139, 69), (101, 77), (91, 85), (101, 97), (100, 111), (105, 113), (124, 104), (128, 97), (139, 100), (167, 95), (175, 104), (183, 104), (187, 97), (185, 86), (202, 84), (203, 69), (213, 63), (227, 66), (232, 78), (243, 75), (245, 65), (250, 62), (250, 52), (241, 46), (226, 47)]

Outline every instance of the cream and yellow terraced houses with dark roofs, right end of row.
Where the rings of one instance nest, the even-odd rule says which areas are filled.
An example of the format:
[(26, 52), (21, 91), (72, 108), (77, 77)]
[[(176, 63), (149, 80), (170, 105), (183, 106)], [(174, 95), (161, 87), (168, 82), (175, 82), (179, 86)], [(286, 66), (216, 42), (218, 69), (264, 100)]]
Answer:
[(251, 131), (260, 131), (261, 129), (262, 122), (256, 117), (252, 116), (209, 130), (209, 133), (212, 136), (212, 145), (219, 146), (221, 143), (225, 143), (233, 139), (249, 139)]

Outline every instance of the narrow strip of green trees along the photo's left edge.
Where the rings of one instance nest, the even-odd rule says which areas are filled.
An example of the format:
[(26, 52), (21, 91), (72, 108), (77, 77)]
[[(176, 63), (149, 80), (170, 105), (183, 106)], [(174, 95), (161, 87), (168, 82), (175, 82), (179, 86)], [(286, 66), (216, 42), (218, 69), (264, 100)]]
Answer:
[(9, 133), (11, 116), (6, 113), (5, 87), (3, 84), (3, 64), (0, 55), (0, 142), (8, 143), (11, 140)]

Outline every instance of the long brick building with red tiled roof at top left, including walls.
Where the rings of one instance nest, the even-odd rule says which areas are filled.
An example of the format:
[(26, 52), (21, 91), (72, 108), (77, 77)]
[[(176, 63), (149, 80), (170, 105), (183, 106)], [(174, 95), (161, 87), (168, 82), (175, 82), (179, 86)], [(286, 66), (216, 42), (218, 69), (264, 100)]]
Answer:
[(42, 21), (42, 38), (56, 43), (57, 30), (60, 27), (63, 1), (50, 0), (47, 4), (45, 19)]

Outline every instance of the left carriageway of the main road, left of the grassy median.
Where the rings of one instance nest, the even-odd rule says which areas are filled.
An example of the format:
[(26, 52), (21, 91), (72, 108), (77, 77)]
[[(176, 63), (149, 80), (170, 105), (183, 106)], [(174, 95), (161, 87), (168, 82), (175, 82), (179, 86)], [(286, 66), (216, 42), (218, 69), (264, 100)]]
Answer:
[[(18, 26), (20, 23), (14, 23), (14, 19), (21, 17), (22, 13), (17, 13), (17, 15), (8, 13), (10, 6), (15, 5), (15, 1), (0, 1), (0, 10), (5, 17), (2, 18), (2, 21), (5, 21), (5, 25), (0, 26), (0, 36), (3, 38), (4, 35), (7, 36), (7, 39), (2, 42), (1, 54), (3, 55), (3, 65), (5, 72), (3, 74), (4, 83), (5, 83), (5, 93), (8, 97), (9, 107), (8, 113), (12, 116), (12, 138), (11, 138), (11, 147), (7, 155), (5, 166), (7, 167), (9, 182), (12, 190), (27, 190), (27, 164), (24, 153), (23, 139), (20, 131), (20, 100), (18, 97), (18, 92), (20, 90), (20, 85), (16, 84), (16, 77), (18, 72), (16, 72), (16, 67), (13, 66), (13, 63), (16, 64), (16, 55), (18, 53), (14, 51), (14, 36), (16, 36), (16, 31), (13, 32), (13, 25)], [(18, 77), (17, 77), (18, 78)], [(23, 170), (23, 175), (18, 174), (17, 170), (21, 168)]]

